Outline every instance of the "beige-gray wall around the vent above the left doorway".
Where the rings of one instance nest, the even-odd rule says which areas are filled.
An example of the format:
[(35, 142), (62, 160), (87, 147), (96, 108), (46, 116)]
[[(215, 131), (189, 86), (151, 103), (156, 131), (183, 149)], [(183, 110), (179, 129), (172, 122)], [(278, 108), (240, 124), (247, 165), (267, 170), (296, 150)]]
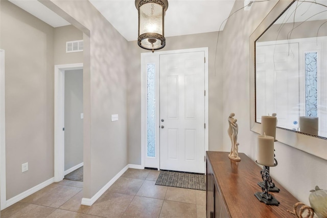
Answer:
[(56, 27), (54, 28), (54, 39), (55, 65), (83, 62), (83, 52), (66, 53), (66, 41), (83, 39), (83, 33), (79, 29), (73, 25)]

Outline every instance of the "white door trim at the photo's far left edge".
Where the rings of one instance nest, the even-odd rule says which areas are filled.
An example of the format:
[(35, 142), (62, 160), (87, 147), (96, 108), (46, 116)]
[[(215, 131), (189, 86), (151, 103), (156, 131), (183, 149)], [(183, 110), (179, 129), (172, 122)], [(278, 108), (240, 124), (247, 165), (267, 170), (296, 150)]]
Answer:
[(5, 50), (0, 49), (0, 210), (6, 199)]

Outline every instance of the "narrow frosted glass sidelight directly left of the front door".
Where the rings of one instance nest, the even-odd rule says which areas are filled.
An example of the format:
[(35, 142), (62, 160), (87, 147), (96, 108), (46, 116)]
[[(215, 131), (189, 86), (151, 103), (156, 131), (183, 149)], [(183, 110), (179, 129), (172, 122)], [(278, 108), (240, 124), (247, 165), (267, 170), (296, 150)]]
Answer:
[(147, 155), (155, 157), (155, 64), (147, 64)]

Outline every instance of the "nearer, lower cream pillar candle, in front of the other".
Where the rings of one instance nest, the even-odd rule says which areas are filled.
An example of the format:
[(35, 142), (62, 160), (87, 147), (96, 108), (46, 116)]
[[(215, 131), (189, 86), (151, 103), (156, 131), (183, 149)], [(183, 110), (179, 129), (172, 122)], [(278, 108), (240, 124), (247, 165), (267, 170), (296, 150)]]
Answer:
[(256, 159), (260, 165), (274, 165), (274, 137), (258, 136), (258, 157)]

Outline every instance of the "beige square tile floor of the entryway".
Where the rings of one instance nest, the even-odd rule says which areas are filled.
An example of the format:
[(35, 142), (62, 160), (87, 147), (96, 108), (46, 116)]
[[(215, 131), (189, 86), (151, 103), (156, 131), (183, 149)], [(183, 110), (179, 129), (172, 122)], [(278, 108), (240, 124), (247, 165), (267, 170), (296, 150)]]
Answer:
[(128, 169), (92, 205), (83, 182), (53, 183), (1, 211), (1, 217), (205, 217), (205, 191), (155, 185), (157, 170)]

